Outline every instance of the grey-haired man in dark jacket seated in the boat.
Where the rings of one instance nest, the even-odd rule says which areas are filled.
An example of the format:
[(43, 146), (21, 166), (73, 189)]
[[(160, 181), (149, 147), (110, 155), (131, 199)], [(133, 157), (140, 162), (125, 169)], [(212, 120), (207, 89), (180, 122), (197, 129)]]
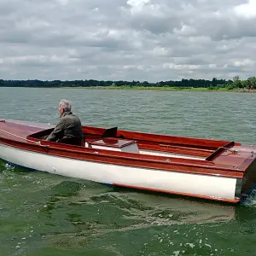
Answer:
[(71, 112), (71, 104), (67, 100), (59, 103), (60, 120), (46, 138), (49, 142), (67, 143), (84, 146), (84, 133), (80, 119)]

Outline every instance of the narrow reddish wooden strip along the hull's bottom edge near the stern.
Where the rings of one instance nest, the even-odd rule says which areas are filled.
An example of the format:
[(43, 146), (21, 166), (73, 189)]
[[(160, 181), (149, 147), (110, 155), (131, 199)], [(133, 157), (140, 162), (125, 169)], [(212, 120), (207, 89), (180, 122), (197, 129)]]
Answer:
[(152, 192), (159, 192), (159, 193), (166, 193), (166, 194), (173, 194), (173, 195), (183, 195), (183, 196), (188, 196), (188, 197), (198, 197), (201, 199), (207, 199), (207, 200), (212, 200), (212, 201), (224, 201), (224, 202), (229, 202), (229, 203), (234, 203), (234, 204), (237, 204), (240, 201), (240, 199), (238, 197), (235, 197), (235, 199), (225, 199), (225, 198), (219, 198), (219, 197), (209, 196), (209, 195), (189, 194), (189, 193), (182, 193), (182, 192), (176, 192), (176, 191), (165, 190), (165, 189), (150, 189), (150, 188), (146, 188), (146, 187), (132, 186), (132, 185), (126, 185), (126, 184), (121, 184), (121, 183), (113, 183), (113, 186), (124, 187), (124, 188), (128, 188), (128, 189), (148, 190), (148, 191), (152, 191)]

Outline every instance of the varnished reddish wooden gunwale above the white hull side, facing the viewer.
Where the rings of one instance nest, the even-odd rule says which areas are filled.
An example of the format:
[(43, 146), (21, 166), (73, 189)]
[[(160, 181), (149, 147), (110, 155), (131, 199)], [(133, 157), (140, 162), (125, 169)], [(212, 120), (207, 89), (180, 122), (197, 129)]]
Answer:
[[(215, 166), (212, 162), (204, 162), (199, 160), (187, 160), (186, 163), (175, 159), (174, 161), (167, 162), (165, 157), (157, 156), (154, 159), (150, 155), (139, 155), (137, 154), (124, 154), (118, 151), (104, 150), (104, 149), (94, 149), (94, 148), (83, 148), (73, 146), (72, 150), (67, 145), (61, 145), (62, 148), (53, 148), (48, 145), (47, 148), (41, 147), (33, 143), (21, 143), (9, 141), (9, 143), (4, 143), (3, 139), (0, 143), (3, 143), (9, 147), (20, 148), (23, 150), (28, 150), (31, 152), (43, 153), (54, 155), (58, 157), (64, 157), (69, 159), (76, 160), (87, 160), (104, 164), (112, 164), (118, 166), (131, 166), (131, 167), (140, 167), (147, 168), (155, 171), (166, 171), (166, 172), (185, 172), (191, 174), (200, 174), (200, 175), (210, 175), (218, 177), (243, 177), (244, 170), (236, 169), (230, 170), (230, 168)], [(56, 143), (53, 143), (56, 144)], [(47, 145), (44, 145), (47, 146)], [(58, 145), (59, 146), (59, 145)], [(75, 149), (75, 150), (74, 150)], [(77, 149), (77, 150), (76, 150)], [(95, 154), (97, 152), (97, 154)], [(133, 156), (134, 155), (134, 156)], [(136, 156), (136, 157), (135, 157)], [(195, 164), (197, 161), (201, 164)], [(194, 164), (193, 164), (194, 162)]]

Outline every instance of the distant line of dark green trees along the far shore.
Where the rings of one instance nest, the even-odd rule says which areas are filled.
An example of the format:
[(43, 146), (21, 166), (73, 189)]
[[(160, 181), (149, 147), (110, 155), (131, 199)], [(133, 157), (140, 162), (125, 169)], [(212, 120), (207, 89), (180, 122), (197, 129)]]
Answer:
[(41, 80), (3, 80), (0, 79), (1, 87), (41, 87), (41, 88), (57, 88), (57, 87), (176, 87), (176, 88), (227, 88), (233, 89), (256, 89), (256, 78), (251, 77), (247, 80), (241, 80), (239, 76), (232, 80), (216, 79), (182, 79), (180, 81), (160, 81), (157, 83), (149, 83), (147, 81), (99, 81), (99, 80), (73, 80), (73, 81), (41, 81)]

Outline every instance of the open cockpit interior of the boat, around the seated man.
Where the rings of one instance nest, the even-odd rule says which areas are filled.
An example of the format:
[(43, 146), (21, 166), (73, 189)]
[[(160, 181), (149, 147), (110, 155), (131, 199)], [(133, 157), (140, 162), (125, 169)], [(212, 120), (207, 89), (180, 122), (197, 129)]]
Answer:
[[(99, 131), (90, 131), (90, 127), (83, 127), (84, 137), (65, 139), (58, 143), (64, 143), (73, 146), (81, 146), (85, 148), (106, 149), (119, 152), (149, 154), (165, 157), (177, 157), (195, 160), (206, 160), (207, 156), (212, 153), (212, 150), (201, 148), (186, 148), (184, 146), (170, 146), (154, 141), (146, 141), (137, 137), (126, 137), (118, 132), (118, 127), (107, 129), (98, 128)], [(39, 131), (29, 137), (44, 140), (54, 128), (44, 131)], [(166, 147), (164, 147), (166, 146)], [(213, 150), (214, 151), (214, 150)]]

